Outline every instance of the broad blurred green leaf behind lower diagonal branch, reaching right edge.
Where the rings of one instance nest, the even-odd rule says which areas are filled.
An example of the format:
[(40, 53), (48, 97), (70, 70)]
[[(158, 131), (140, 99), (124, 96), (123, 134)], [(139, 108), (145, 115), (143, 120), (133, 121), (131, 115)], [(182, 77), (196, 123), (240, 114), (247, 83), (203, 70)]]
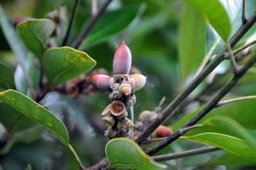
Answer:
[[(247, 99), (243, 101), (236, 101), (233, 103), (224, 104), (218, 108), (214, 108), (210, 113), (208, 113), (198, 124), (202, 124), (207, 118), (212, 115), (223, 115), (226, 117), (230, 117), (233, 120), (236, 120), (239, 124), (243, 125), (243, 127), (255, 129), (256, 128), (256, 99)], [(204, 108), (201, 106), (197, 110), (186, 114), (184, 117), (180, 118), (176, 124), (173, 125), (173, 131), (177, 131), (182, 125), (186, 124), (192, 117)], [(244, 109), (246, 108), (246, 109)]]

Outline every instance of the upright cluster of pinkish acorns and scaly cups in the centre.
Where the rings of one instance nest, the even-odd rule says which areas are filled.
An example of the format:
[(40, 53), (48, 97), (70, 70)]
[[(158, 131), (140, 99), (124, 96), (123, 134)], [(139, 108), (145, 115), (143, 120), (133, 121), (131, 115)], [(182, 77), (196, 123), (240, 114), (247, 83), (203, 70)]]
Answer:
[(103, 92), (109, 92), (112, 102), (102, 112), (102, 120), (109, 125), (105, 136), (109, 138), (127, 137), (129, 130), (134, 127), (127, 118), (127, 110), (136, 103), (134, 92), (144, 87), (146, 77), (142, 74), (131, 74), (132, 55), (125, 43), (120, 45), (113, 60), (113, 77), (105, 74), (93, 74), (88, 80), (93, 87)]

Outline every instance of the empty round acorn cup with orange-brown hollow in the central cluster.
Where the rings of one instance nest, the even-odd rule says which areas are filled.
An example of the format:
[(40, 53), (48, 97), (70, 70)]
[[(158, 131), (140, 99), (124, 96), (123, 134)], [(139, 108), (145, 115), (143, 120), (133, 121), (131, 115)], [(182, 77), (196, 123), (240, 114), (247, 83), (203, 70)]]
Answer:
[(110, 111), (112, 115), (114, 115), (118, 120), (124, 120), (128, 113), (125, 110), (125, 105), (124, 103), (120, 101), (113, 101), (110, 106)]

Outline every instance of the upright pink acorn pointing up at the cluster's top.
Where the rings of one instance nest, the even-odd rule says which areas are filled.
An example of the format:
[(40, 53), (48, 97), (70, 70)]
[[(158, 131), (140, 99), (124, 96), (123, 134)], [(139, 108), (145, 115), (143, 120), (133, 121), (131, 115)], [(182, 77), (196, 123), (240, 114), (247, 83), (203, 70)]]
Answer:
[(131, 64), (131, 51), (129, 47), (123, 42), (115, 52), (113, 60), (113, 74), (129, 74)]

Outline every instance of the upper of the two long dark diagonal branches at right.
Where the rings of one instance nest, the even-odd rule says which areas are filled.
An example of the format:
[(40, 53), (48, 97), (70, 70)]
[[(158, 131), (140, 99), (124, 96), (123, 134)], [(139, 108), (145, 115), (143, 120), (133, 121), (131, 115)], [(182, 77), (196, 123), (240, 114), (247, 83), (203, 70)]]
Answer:
[[(253, 13), (251, 17), (248, 18), (246, 24), (241, 25), (236, 34), (230, 39), (230, 46), (234, 47), (237, 42), (244, 36), (244, 34), (252, 27), (256, 22), (256, 12)], [(136, 139), (136, 142), (141, 144), (145, 139), (156, 130), (156, 128), (166, 120), (173, 111), (186, 99), (186, 97), (193, 92), (193, 90), (208, 76), (213, 69), (215, 69), (223, 60), (227, 48), (224, 46), (222, 50), (214, 57), (214, 59), (209, 62), (209, 64), (202, 70), (198, 76), (196, 76), (189, 85), (173, 99), (172, 103), (168, 104), (166, 108), (161, 112), (161, 117), (157, 117), (156, 120), (148, 125), (147, 129), (141, 133), (141, 135)]]

